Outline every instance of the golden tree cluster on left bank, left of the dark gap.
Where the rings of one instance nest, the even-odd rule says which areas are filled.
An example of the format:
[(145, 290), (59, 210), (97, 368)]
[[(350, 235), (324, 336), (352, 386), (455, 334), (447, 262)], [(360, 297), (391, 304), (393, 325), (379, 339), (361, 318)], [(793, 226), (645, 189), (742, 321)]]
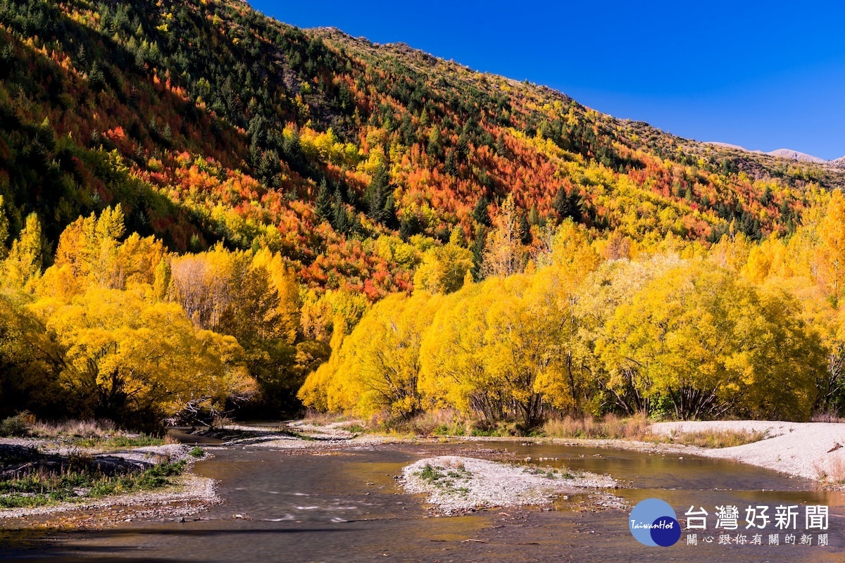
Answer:
[(42, 273), (40, 221), (26, 219), (0, 278), (0, 410), (136, 424), (246, 403), (296, 410), (327, 347), (300, 334), (281, 257), (222, 246), (177, 256), (124, 229), (120, 206), (80, 217)]

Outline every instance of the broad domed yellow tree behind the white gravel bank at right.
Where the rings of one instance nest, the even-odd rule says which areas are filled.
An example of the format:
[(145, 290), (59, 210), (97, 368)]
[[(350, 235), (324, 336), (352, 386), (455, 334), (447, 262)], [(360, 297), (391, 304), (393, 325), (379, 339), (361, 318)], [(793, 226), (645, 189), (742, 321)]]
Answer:
[(765, 414), (805, 419), (823, 369), (818, 339), (787, 295), (760, 295), (709, 264), (673, 268), (607, 324), (608, 371), (633, 371), (646, 398), (681, 419)]

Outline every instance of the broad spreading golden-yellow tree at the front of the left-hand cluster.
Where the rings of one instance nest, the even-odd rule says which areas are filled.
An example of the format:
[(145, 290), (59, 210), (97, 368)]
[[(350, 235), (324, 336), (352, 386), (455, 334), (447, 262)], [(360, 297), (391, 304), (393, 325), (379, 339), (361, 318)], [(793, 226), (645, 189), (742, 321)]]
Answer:
[(237, 341), (198, 331), (177, 304), (92, 288), (66, 306), (37, 305), (64, 350), (61, 381), (80, 414), (172, 416), (200, 403), (223, 409), (255, 392)]

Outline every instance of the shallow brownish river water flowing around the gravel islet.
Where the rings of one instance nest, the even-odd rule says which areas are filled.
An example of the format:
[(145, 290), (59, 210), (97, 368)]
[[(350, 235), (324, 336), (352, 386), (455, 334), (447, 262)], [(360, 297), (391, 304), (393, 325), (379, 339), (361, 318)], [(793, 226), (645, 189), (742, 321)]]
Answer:
[[(812, 545), (638, 544), (628, 532), (629, 510), (596, 511), (575, 498), (554, 510), (493, 509), (435, 517), (419, 496), (405, 495), (395, 475), (432, 452), (542, 461), (607, 473), (630, 488), (613, 493), (630, 506), (649, 497), (671, 504), (679, 518), (690, 505), (828, 505), (828, 547)], [(0, 559), (21, 561), (842, 561), (845, 499), (811, 491), (804, 479), (740, 463), (678, 455), (651, 455), (591, 447), (474, 442), (437, 446), (356, 447), (296, 454), (258, 447), (221, 447), (194, 471), (219, 479), (225, 502), (197, 522), (130, 522), (95, 532), (25, 532), (7, 535)], [(488, 454), (490, 452), (487, 452)], [(526, 462), (523, 462), (526, 463)], [(799, 532), (804, 528), (803, 507)], [(710, 524), (715, 523), (711, 517)], [(743, 530), (740, 530), (743, 531)], [(712, 533), (712, 532), (711, 532)], [(701, 539), (703, 536), (700, 534)], [(750, 537), (750, 536), (749, 536)], [(466, 541), (475, 540), (475, 541)], [(781, 542), (783, 533), (781, 533)]]

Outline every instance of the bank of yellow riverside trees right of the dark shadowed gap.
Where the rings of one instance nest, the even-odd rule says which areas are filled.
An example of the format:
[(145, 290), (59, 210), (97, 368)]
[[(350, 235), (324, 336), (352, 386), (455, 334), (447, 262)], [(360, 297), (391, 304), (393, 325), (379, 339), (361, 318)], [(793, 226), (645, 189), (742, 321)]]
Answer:
[[(845, 198), (788, 240), (671, 237), (626, 252), (571, 221), (525, 268), (500, 220), (480, 283), (373, 306), (300, 397), (318, 409), (410, 419), (451, 408), (522, 428), (550, 414), (808, 420), (842, 414)], [(500, 218), (505, 219), (505, 218)], [(510, 262), (503, 261), (503, 256)]]

